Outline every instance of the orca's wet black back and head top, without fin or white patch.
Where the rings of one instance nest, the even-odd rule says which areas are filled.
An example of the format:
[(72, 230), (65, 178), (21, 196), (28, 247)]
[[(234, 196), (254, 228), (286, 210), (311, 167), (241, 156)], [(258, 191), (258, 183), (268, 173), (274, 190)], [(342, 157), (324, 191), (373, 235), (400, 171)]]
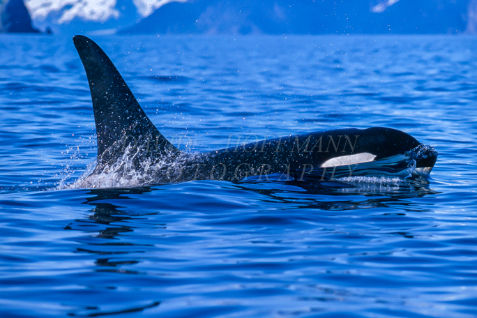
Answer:
[(211, 174), (210, 179), (233, 181), (265, 174), (292, 174), (299, 179), (310, 169), (317, 172), (320, 165), (331, 158), (367, 152), (379, 160), (418, 145), (414, 137), (391, 128), (327, 130), (211, 151), (204, 153), (200, 161), (188, 162), (187, 167), (204, 177)]

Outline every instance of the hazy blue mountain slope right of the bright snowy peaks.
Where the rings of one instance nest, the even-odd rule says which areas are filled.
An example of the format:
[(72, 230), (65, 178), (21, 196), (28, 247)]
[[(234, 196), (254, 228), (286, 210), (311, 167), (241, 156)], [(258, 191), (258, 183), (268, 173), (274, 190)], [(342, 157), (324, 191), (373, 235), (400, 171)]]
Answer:
[(462, 33), (469, 0), (192, 0), (121, 33)]

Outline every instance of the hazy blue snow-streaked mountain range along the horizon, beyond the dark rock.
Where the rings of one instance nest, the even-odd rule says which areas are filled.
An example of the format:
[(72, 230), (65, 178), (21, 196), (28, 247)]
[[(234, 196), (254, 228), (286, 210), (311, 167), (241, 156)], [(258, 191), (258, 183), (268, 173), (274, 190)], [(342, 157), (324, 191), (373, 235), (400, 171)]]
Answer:
[(24, 2), (34, 27), (67, 34), (477, 32), (477, 0)]

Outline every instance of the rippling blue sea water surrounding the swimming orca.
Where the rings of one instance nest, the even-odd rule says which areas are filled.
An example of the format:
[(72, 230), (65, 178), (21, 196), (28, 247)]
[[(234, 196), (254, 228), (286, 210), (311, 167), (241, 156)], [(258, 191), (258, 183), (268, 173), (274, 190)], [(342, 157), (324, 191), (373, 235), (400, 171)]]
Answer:
[(432, 180), (67, 188), (96, 156), (73, 41), (2, 35), (1, 317), (477, 315), (477, 38), (93, 39), (180, 149), (386, 126)]

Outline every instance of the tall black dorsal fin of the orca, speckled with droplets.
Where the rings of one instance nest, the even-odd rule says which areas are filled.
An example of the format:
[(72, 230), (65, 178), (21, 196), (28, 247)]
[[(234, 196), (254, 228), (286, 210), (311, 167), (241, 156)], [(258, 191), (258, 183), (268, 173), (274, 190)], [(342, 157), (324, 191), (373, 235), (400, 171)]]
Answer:
[(178, 151), (144, 113), (105, 52), (86, 36), (74, 36), (73, 43), (86, 70), (93, 100), (98, 135), (98, 163), (117, 157), (118, 154), (105, 156), (105, 153), (121, 140), (129, 139), (136, 143), (139, 139), (149, 142), (152, 140), (153, 144), (160, 145), (160, 149), (156, 151)]

